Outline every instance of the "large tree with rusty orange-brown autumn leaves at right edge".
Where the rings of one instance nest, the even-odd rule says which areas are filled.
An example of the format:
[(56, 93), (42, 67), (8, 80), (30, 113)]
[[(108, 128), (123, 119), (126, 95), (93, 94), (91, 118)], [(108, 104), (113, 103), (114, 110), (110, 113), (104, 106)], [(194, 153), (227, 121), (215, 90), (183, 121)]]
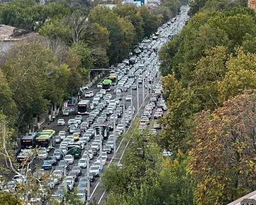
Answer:
[(255, 100), (252, 91), (198, 114), (189, 167), (196, 204), (228, 204), (255, 190)]

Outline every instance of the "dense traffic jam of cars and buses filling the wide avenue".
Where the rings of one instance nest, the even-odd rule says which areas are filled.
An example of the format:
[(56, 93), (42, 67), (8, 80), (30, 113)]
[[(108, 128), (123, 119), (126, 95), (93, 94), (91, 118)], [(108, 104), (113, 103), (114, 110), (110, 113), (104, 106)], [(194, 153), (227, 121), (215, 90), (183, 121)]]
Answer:
[[(24, 135), (17, 155), (20, 174), (0, 188), (15, 192), (17, 184), (26, 183), (28, 168), (39, 180), (47, 174), (46, 183), (56, 201), (63, 202), (64, 189), (72, 192), (77, 188), (79, 199), (86, 203), (88, 188), (95, 188), (136, 115), (140, 117), (141, 132), (151, 121), (154, 122), (150, 134), (161, 132), (157, 119), (164, 116), (167, 107), (162, 97), (157, 52), (181, 29), (185, 17), (185, 13), (180, 13), (159, 27), (151, 40), (140, 43), (131, 57), (116, 65), (95, 88), (81, 87), (80, 101), (63, 110), (54, 122), (56, 128)], [(164, 151), (163, 155), (171, 153)], [(118, 166), (122, 169), (121, 163)], [(44, 188), (38, 190), (29, 199), (31, 204), (43, 204), (46, 192)]]

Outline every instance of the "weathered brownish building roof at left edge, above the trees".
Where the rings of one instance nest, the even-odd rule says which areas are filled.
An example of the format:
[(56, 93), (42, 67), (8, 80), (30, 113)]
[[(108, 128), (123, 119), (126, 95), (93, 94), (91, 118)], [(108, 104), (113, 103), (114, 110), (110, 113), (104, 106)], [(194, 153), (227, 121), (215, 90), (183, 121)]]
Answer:
[(0, 24), (0, 41), (2, 42), (24, 40), (25, 38), (37, 35), (38, 33), (35, 32)]

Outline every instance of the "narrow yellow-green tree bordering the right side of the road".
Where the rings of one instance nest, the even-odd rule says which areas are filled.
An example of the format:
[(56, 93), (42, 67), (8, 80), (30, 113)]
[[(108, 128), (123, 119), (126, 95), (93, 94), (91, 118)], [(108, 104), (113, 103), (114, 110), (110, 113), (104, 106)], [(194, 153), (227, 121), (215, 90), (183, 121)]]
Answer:
[(168, 97), (168, 113), (160, 120), (165, 128), (159, 137), (159, 144), (175, 155), (179, 149), (186, 152), (191, 147), (189, 141), (193, 132), (193, 118), (200, 111), (200, 102), (194, 91), (182, 88), (173, 75), (163, 78), (163, 86)]

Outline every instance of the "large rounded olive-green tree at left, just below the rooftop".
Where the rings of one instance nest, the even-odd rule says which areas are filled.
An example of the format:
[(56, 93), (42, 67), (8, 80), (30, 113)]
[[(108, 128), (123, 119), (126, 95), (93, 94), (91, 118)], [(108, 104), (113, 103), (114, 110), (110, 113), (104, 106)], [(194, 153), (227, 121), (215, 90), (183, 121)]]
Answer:
[[(20, 110), (17, 121), (20, 131), (25, 131), (31, 125), (33, 117), (44, 113), (50, 102), (57, 103), (44, 98), (45, 95), (48, 99), (55, 98), (47, 93), (45, 87), (53, 83), (51, 77), (58, 68), (57, 63), (52, 50), (38, 42), (15, 43), (8, 52), (2, 69), (13, 91), (13, 100)], [(56, 86), (56, 89), (60, 87)], [(58, 91), (61, 93), (61, 90)], [(55, 92), (52, 94), (55, 95)]]

